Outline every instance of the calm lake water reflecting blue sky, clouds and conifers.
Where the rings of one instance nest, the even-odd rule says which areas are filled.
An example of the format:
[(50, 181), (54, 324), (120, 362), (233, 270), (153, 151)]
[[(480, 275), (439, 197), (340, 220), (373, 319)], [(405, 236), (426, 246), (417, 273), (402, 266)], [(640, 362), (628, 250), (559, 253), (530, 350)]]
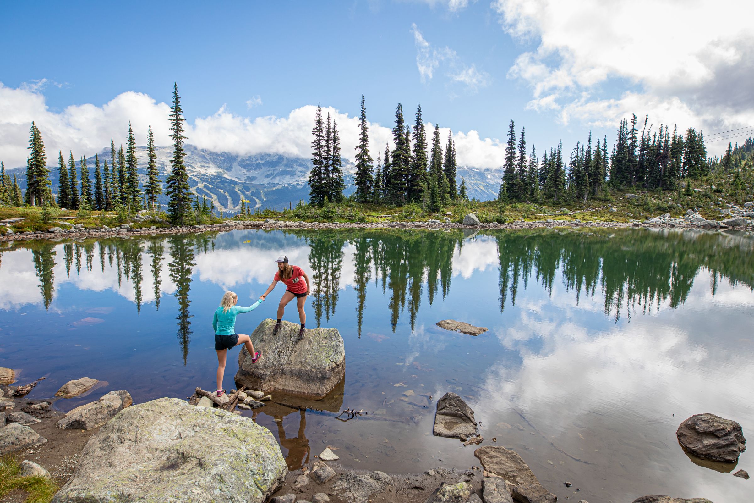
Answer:
[[(284, 253), (313, 283), (308, 326), (338, 328), (346, 350), (345, 381), (325, 400), (253, 414), (290, 468), (328, 445), (353, 468), (478, 465), (476, 446), (431, 434), (437, 399), (454, 391), (474, 409), (483, 445), (496, 437), (515, 449), (562, 501), (751, 501), (751, 480), (690, 459), (675, 431), (710, 412), (754, 437), (752, 250), (751, 235), (647, 229), (18, 243), (0, 248), (0, 366), (19, 369), (21, 382), (48, 376), (35, 399), (69, 379), (106, 381), (58, 400), (63, 411), (115, 389), (136, 403), (210, 389), (223, 291), (251, 304)], [(241, 315), (238, 331), (275, 317), (283, 291)], [(435, 326), (446, 318), (489, 332)], [(286, 319), (298, 321), (295, 309)], [(369, 416), (335, 419), (345, 407)], [(754, 452), (739, 468), (754, 474)]]

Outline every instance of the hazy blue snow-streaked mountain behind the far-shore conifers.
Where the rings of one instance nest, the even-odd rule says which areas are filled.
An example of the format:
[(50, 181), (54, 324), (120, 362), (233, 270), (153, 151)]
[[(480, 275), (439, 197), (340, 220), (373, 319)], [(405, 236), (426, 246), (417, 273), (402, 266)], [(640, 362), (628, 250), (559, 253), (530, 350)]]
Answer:
[[(170, 157), (172, 147), (156, 147), (157, 165), (161, 180), (170, 174)], [(308, 158), (289, 157), (280, 154), (238, 155), (230, 152), (211, 152), (198, 149), (193, 145), (185, 146), (185, 165), (189, 173), (189, 185), (192, 192), (206, 196), (214, 202), (216, 207), (224, 211), (238, 211), (241, 198), (251, 201), (251, 207), (283, 209), (290, 205), (296, 206), (300, 200), (308, 201), (308, 173), (311, 160)], [(65, 156), (64, 156), (65, 157)], [(111, 152), (103, 149), (99, 154), (100, 167), (103, 161), (110, 164)], [(146, 147), (136, 149), (139, 161), (139, 179), (146, 182)], [(48, 160), (54, 160), (49, 159)], [(343, 178), (345, 181), (345, 195), (354, 192), (354, 172), (356, 166), (351, 161), (343, 159)], [(81, 173), (81, 164), (76, 161), (76, 169)], [(94, 156), (87, 158), (87, 169), (94, 177)], [(22, 188), (25, 188), (25, 168), (8, 170), (13, 176), (17, 173)], [(53, 192), (57, 193), (57, 164), (51, 166), (51, 180)], [(459, 167), (458, 184), (461, 177), (466, 180), (469, 198), (479, 198), (482, 201), (494, 199), (498, 195), (500, 176), (497, 171), (480, 170), (477, 168)], [(167, 197), (159, 198), (161, 204), (167, 204)]]

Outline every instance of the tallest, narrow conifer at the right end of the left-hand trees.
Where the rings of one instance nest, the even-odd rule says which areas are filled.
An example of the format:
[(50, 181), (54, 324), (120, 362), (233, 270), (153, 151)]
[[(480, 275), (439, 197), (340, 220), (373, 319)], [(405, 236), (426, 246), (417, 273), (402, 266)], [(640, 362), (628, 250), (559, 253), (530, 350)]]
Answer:
[(189, 174), (186, 173), (183, 158), (183, 109), (181, 99), (178, 96), (178, 84), (173, 82), (173, 106), (170, 107), (170, 138), (173, 139), (173, 156), (170, 158), (170, 175), (165, 180), (165, 193), (170, 198), (167, 203), (167, 213), (170, 222), (174, 225), (184, 225), (186, 217), (191, 211), (191, 188), (189, 187)]

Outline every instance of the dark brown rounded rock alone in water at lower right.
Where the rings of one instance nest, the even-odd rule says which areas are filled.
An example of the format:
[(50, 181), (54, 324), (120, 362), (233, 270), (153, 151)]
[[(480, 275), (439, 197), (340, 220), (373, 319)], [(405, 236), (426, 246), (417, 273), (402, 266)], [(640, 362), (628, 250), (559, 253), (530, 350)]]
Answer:
[(696, 414), (679, 425), (676, 437), (691, 454), (713, 461), (734, 463), (746, 450), (741, 425), (714, 414)]

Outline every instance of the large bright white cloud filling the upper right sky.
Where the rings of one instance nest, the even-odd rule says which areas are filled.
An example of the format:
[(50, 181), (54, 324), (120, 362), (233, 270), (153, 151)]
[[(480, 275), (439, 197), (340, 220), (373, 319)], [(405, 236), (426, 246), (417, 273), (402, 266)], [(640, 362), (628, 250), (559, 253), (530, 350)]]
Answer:
[(631, 112), (708, 131), (754, 124), (751, 2), (495, 0), (492, 8), (506, 32), (536, 46), (508, 72), (531, 86), (530, 109), (566, 124), (615, 125)]

